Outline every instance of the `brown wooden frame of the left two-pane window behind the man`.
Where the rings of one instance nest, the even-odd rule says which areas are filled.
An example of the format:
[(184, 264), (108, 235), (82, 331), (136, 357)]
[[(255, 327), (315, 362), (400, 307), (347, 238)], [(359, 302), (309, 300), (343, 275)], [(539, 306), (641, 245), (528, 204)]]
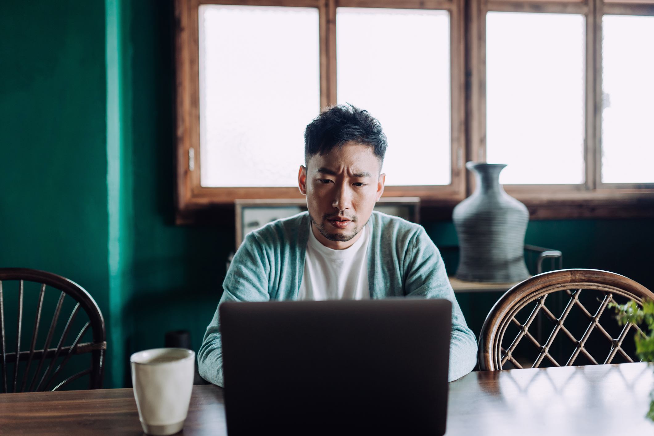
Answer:
[[(450, 14), (451, 182), (443, 186), (386, 186), (387, 197), (420, 197), (422, 203), (456, 203), (466, 194), (464, 0), (177, 0), (177, 210), (189, 212), (235, 199), (302, 198), (298, 187), (208, 188), (200, 184), (199, 147), (199, 5), (257, 5), (318, 9), (320, 33), (320, 107), (336, 104), (336, 8), (403, 8), (445, 10)], [(316, 113), (318, 113), (316, 108)], [(308, 122), (308, 121), (307, 121)], [(298, 126), (302, 129), (303, 126)], [(300, 163), (298, 163), (299, 165)], [(179, 218), (178, 222), (184, 222)], [(186, 213), (188, 215), (188, 213)]]

